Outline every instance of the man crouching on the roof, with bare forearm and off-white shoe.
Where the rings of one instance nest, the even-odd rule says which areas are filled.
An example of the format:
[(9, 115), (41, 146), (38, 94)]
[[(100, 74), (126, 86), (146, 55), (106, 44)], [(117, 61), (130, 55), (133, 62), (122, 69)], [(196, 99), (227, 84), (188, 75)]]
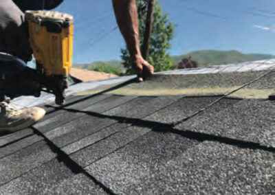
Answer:
[[(25, 62), (32, 59), (32, 49), (25, 27), (26, 10), (51, 10), (63, 0), (1, 0), (0, 1), (0, 52), (17, 56)], [(142, 58), (138, 32), (137, 7), (135, 0), (113, 0), (115, 16), (133, 59), (133, 68), (142, 81), (142, 74), (151, 75), (153, 67)], [(1, 71), (11, 71), (12, 65), (0, 59)], [(12, 69), (17, 71), (17, 69)], [(31, 126), (45, 115), (43, 108), (32, 107), (18, 110), (0, 102), (0, 132), (14, 132)]]

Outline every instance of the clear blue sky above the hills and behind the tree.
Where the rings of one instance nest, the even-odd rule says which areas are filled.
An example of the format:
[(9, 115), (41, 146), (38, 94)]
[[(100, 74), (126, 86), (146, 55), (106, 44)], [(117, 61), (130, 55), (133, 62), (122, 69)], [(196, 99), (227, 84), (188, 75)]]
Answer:
[[(158, 0), (175, 24), (170, 54), (237, 49), (275, 54), (274, 0)], [(75, 17), (74, 62), (120, 58), (124, 41), (111, 0), (65, 0), (56, 10)]]

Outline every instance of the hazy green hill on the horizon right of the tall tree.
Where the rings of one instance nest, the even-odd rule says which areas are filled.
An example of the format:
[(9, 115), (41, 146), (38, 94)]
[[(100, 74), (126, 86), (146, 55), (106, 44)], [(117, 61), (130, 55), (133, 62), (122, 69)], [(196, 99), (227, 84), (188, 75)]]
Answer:
[(275, 56), (268, 54), (243, 54), (240, 51), (219, 51), (219, 50), (201, 50), (192, 51), (188, 54), (181, 56), (172, 56), (174, 63), (177, 64), (182, 58), (188, 56), (192, 57), (192, 60), (199, 62), (199, 67), (207, 65), (226, 65), (230, 63), (248, 62), (255, 60), (266, 60), (275, 58)]

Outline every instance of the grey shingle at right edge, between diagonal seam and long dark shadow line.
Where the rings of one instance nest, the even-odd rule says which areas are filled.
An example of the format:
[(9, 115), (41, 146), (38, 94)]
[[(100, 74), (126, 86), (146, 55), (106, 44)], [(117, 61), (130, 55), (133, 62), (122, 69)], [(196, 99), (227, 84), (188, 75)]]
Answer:
[(243, 100), (217, 113), (206, 111), (177, 128), (274, 147), (274, 111), (272, 102)]

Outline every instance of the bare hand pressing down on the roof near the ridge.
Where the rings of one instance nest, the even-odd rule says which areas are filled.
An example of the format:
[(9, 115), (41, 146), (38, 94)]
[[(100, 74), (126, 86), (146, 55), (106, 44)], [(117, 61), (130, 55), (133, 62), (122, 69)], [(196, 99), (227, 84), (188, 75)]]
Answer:
[(154, 73), (154, 67), (144, 60), (142, 56), (135, 56), (133, 60), (133, 69), (137, 72), (138, 82), (143, 82)]

